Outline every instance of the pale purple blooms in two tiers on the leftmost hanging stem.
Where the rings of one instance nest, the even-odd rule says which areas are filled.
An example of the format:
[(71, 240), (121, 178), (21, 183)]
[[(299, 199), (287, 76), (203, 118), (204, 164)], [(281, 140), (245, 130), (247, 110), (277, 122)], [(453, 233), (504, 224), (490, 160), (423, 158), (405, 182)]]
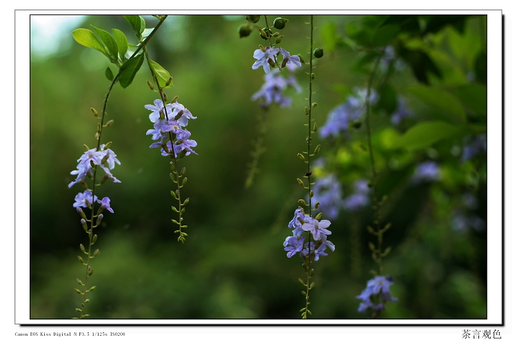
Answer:
[[(93, 148), (92, 150), (88, 150), (84, 152), (83, 155), (79, 159), (77, 159), (77, 170), (70, 172), (72, 175), (77, 174), (77, 178), (72, 183), (68, 184), (68, 188), (72, 188), (72, 185), (77, 183), (85, 184), (85, 177), (93, 178), (92, 169), (96, 166), (102, 168), (105, 172), (101, 183), (104, 183), (108, 179), (111, 179), (113, 183), (120, 183), (119, 179), (116, 179), (115, 176), (111, 173), (111, 170), (115, 168), (115, 163), (120, 165), (119, 159), (116, 159), (116, 154), (110, 150), (110, 148), (105, 148), (106, 145), (100, 145), (99, 151), (97, 148)], [(107, 164), (108, 166), (105, 166)], [(90, 208), (94, 202), (101, 203), (101, 208), (108, 209), (110, 212), (113, 212), (112, 208), (110, 208), (110, 199), (108, 197), (104, 197), (102, 200), (99, 200), (97, 196), (92, 196), (91, 190), (85, 190), (85, 192), (79, 192), (77, 196), (75, 196), (75, 202), (73, 204), (74, 208)]]

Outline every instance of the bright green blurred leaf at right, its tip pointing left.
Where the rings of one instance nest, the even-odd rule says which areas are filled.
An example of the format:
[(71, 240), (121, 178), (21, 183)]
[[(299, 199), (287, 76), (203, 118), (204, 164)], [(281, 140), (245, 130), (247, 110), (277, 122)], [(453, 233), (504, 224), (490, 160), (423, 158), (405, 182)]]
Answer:
[(426, 148), (442, 139), (464, 134), (463, 125), (453, 125), (443, 121), (422, 122), (409, 128), (396, 139), (391, 148), (407, 148), (416, 150)]

